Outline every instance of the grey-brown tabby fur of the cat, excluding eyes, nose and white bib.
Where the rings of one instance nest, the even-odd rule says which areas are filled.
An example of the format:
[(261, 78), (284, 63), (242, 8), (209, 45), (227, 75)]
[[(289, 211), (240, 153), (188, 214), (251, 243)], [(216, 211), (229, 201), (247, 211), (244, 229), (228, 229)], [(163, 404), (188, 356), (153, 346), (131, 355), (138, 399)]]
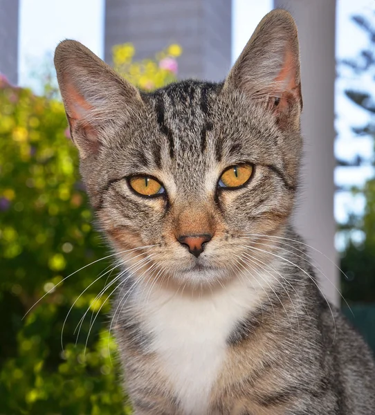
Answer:
[[(212, 392), (210, 414), (375, 413), (371, 352), (322, 297), (290, 223), (302, 98), (297, 30), (289, 13), (275, 10), (262, 20), (222, 84), (189, 80), (139, 93), (73, 41), (57, 47), (55, 64), (82, 177), (120, 260), (135, 262), (136, 254), (122, 251), (152, 245), (135, 251), (145, 259), (154, 255), (147, 265), (154, 270), (145, 271), (150, 281), (208, 295), (208, 289), (225, 289), (230, 259), (240, 263), (251, 252), (260, 269), (280, 257), (277, 271), (284, 278), (275, 279), (268, 300), (228, 336), (234, 356), (228, 376), (237, 380)], [(248, 185), (217, 190), (220, 172), (237, 163), (255, 166)], [(126, 180), (135, 174), (158, 178), (167, 195), (140, 198)], [(200, 282), (184, 279), (193, 259), (176, 234), (186, 230), (214, 234), (202, 255), (211, 268)], [(161, 264), (165, 273), (153, 281)], [(114, 304), (127, 388), (138, 415), (182, 414), (163, 374), (150, 373), (153, 336), (131, 306), (131, 286), (140, 274), (128, 271)], [(257, 348), (261, 357), (253, 361)], [(247, 360), (253, 369), (244, 376)]]

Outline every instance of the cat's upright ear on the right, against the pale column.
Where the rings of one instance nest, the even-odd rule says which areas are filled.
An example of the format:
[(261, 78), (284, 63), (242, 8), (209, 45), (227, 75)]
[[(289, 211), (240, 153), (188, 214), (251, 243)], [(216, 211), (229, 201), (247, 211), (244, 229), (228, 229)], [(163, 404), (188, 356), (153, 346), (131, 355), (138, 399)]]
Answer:
[(273, 10), (259, 23), (224, 83), (224, 89), (233, 88), (264, 103), (279, 118), (295, 107), (300, 113), (298, 33), (289, 12)]

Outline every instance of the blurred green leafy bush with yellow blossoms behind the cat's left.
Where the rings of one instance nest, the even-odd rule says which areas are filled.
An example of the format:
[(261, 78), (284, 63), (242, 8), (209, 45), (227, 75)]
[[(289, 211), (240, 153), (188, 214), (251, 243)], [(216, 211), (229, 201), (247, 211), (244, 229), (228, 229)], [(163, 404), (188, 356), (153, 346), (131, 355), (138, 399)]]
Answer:
[[(158, 63), (154, 73), (174, 80)], [(100, 295), (117, 270), (93, 228), (64, 107), (51, 96), (0, 77), (0, 412), (130, 414), (108, 331), (113, 287)]]

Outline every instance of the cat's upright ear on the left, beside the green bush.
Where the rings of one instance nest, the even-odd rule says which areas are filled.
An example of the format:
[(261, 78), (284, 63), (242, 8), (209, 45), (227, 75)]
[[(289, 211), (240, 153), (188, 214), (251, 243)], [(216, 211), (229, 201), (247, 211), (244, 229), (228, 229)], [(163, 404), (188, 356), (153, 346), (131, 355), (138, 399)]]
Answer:
[(96, 154), (142, 105), (140, 94), (74, 40), (57, 46), (55, 68), (73, 142), (82, 158)]

